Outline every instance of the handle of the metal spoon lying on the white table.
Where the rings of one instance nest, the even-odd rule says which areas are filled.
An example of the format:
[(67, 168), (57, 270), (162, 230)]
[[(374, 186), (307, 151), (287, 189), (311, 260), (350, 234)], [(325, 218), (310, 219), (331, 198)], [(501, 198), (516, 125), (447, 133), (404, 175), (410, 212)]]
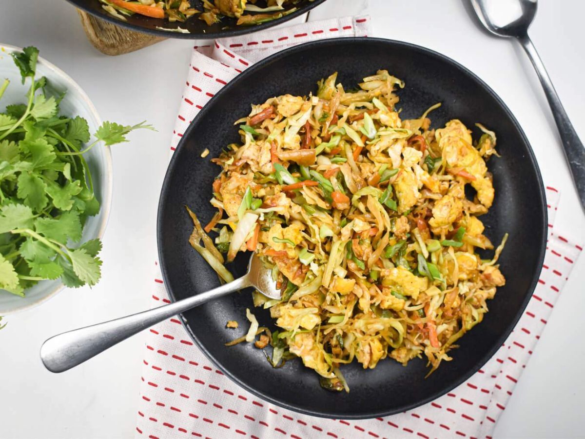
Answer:
[(556, 126), (559, 129), (567, 164), (569, 164), (573, 182), (577, 188), (577, 195), (581, 200), (581, 207), (585, 210), (585, 148), (583, 148), (583, 143), (579, 140), (579, 136), (577, 136), (573, 125), (569, 121), (569, 116), (567, 116), (563, 104), (560, 103), (559, 95), (556, 94), (555, 87), (553, 87), (552, 81), (550, 81), (550, 77), (546, 73), (546, 68), (542, 63), (541, 57), (536, 52), (536, 47), (534, 47), (528, 35), (518, 40), (522, 44), (522, 47), (524, 47), (526, 53), (528, 53), (528, 57), (532, 61), (532, 65), (541, 80), (546, 99), (549, 101), (550, 109), (552, 109), (552, 114), (555, 117)]

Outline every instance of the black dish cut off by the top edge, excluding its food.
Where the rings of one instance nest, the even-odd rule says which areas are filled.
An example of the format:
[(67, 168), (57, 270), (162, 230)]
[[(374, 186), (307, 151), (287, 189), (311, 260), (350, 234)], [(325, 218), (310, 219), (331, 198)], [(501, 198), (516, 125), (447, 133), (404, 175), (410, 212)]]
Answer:
[[(139, 14), (126, 17), (127, 21), (122, 21), (118, 18), (113, 17), (102, 8), (102, 3), (99, 0), (67, 0), (73, 3), (77, 8), (83, 9), (85, 12), (91, 13), (92, 15), (101, 18), (102, 20), (109, 21), (115, 25), (122, 26), (124, 28), (137, 30), (138, 32), (152, 33), (153, 35), (163, 36), (166, 38), (181, 38), (181, 39), (215, 39), (232, 37), (236, 35), (245, 35), (246, 33), (257, 32), (259, 30), (271, 28), (287, 20), (295, 18), (306, 12), (309, 9), (314, 8), (316, 5), (323, 3), (325, 0), (300, 0), (296, 6), (297, 11), (285, 15), (282, 18), (272, 20), (266, 23), (261, 23), (255, 26), (236, 26), (237, 19), (224, 17), (221, 22), (215, 23), (214, 25), (208, 26), (203, 20), (199, 20), (198, 15), (191, 17), (184, 23), (173, 22), (170, 23), (168, 20), (159, 18), (150, 18)], [(201, 0), (191, 0), (191, 5), (203, 11)], [(290, 9), (288, 6), (285, 9)], [(167, 30), (157, 29), (187, 29), (190, 33), (180, 32), (168, 32)]]

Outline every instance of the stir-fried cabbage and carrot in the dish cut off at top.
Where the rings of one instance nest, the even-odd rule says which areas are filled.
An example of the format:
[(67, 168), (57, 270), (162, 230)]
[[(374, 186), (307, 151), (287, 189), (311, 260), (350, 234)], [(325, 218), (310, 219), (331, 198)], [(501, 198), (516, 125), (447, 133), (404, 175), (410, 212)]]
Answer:
[[(299, 0), (202, 0), (202, 9), (193, 8), (190, 0), (99, 0), (110, 15), (126, 21), (126, 16), (137, 13), (169, 22), (184, 22), (192, 16), (204, 20), (209, 26), (223, 17), (237, 18), (236, 25), (259, 25), (297, 10)], [(292, 8), (286, 9), (288, 6)], [(254, 13), (249, 13), (254, 12)], [(159, 29), (159, 28), (157, 28)], [(164, 29), (188, 32), (186, 29)]]

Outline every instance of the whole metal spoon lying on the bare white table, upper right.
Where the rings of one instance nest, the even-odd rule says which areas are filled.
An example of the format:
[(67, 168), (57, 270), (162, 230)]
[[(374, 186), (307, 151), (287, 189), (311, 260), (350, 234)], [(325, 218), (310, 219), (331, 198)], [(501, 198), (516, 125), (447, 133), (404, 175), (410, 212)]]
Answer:
[(585, 211), (585, 148), (579, 140), (565, 108), (560, 103), (552, 82), (534, 44), (528, 37), (528, 28), (536, 15), (537, 0), (470, 0), (480, 22), (489, 32), (500, 37), (516, 38), (538, 73), (546, 99), (559, 129), (565, 157), (569, 164), (581, 207)]

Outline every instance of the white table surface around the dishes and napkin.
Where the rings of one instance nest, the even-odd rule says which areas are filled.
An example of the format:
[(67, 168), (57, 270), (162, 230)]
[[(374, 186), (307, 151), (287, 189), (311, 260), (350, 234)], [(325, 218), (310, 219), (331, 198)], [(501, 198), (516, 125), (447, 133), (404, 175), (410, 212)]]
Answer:
[[(329, 0), (310, 19), (363, 5), (373, 18), (373, 36), (437, 50), (494, 88), (523, 126), (545, 183), (562, 191), (557, 225), (583, 242), (585, 217), (553, 118), (519, 46), (480, 32), (460, 0)], [(531, 29), (581, 139), (583, 16), (585, 2), (580, 0), (542, 0)], [(98, 286), (65, 290), (39, 308), (8, 316), (8, 326), (0, 331), (1, 438), (128, 438), (135, 427), (140, 336), (61, 375), (47, 372), (38, 352), (50, 335), (148, 307), (157, 202), (192, 42), (167, 40), (120, 57), (104, 56), (87, 41), (77, 12), (63, 0), (2, 1), (0, 42), (39, 47), (43, 57), (84, 88), (102, 119), (124, 124), (146, 120), (159, 130), (133, 133), (130, 143), (113, 148), (113, 205)], [(495, 437), (583, 435), (584, 284), (581, 256)]]

